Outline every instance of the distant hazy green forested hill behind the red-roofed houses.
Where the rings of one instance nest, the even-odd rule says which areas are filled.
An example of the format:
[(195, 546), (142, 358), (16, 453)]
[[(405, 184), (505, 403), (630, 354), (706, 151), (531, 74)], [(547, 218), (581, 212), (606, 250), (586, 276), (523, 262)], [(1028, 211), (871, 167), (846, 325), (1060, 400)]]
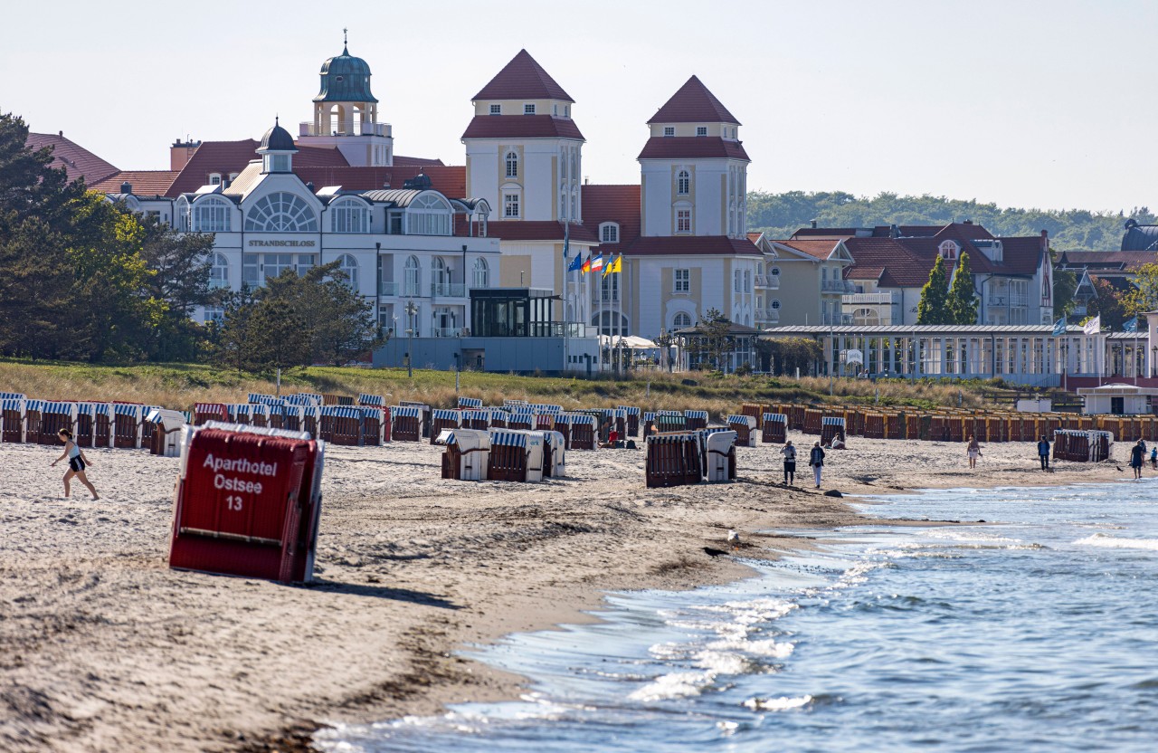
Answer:
[(1122, 246), (1126, 220), (1158, 224), (1149, 207), (1129, 212), (1085, 210), (1018, 210), (996, 204), (963, 202), (944, 196), (897, 196), (873, 198), (843, 191), (748, 195), (748, 231), (769, 231), (772, 237), (789, 237), (797, 228), (816, 220), (821, 227), (873, 227), (875, 225), (944, 225), (973, 220), (994, 235), (1038, 235), (1049, 231), (1056, 250), (1116, 251)]

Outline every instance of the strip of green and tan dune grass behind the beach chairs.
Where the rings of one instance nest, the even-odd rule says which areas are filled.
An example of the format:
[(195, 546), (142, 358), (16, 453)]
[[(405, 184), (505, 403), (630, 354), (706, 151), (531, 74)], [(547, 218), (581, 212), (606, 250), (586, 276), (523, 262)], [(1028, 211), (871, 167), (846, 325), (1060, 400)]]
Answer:
[[(910, 405), (917, 408), (992, 408), (988, 395), (1001, 393), (990, 382), (947, 383), (837, 379), (829, 396), (827, 378), (770, 378), (712, 375), (703, 372), (667, 374), (644, 372), (626, 379), (519, 376), (462, 372), (459, 394), (479, 397), (485, 405), (504, 399), (557, 403), (565, 409), (638, 405), (644, 410), (708, 410), (713, 417), (735, 412), (743, 402), (835, 402)], [(453, 372), (405, 368), (294, 370), (281, 380), (283, 394), (294, 392), (386, 397), (387, 404), (422, 401), (434, 407), (455, 404)], [(189, 410), (195, 402), (245, 402), (249, 393), (274, 394), (270, 379), (222, 371), (200, 364), (139, 364), (107, 366), (73, 363), (0, 360), (0, 392), (24, 393), (49, 400), (124, 400)]]

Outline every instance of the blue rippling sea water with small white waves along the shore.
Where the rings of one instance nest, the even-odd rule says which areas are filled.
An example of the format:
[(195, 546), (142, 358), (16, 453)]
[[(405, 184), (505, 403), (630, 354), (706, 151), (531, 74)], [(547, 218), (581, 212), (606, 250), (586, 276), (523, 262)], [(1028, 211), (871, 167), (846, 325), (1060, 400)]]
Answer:
[(879, 497), (816, 549), (474, 651), (529, 680), (334, 752), (1158, 750), (1158, 484)]

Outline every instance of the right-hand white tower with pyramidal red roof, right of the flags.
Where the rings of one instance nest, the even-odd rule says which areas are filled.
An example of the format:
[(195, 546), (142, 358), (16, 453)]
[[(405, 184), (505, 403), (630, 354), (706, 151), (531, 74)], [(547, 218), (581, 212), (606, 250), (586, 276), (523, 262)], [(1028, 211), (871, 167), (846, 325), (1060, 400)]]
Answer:
[(735, 116), (691, 76), (647, 125), (643, 234), (745, 237), (750, 160)]

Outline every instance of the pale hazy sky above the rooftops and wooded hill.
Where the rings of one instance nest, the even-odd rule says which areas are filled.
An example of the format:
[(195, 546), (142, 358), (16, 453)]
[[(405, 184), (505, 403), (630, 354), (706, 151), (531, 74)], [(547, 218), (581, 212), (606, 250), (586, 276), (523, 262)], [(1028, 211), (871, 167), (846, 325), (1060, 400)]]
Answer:
[(639, 181), (644, 123), (696, 74), (743, 124), (750, 189), (1158, 206), (1153, 1), (21, 7), (0, 111), (122, 169), (168, 168), (186, 134), (259, 138), (274, 114), (296, 133), (349, 27), (400, 154), (461, 165), (471, 95), (526, 47), (576, 100), (592, 183)]

